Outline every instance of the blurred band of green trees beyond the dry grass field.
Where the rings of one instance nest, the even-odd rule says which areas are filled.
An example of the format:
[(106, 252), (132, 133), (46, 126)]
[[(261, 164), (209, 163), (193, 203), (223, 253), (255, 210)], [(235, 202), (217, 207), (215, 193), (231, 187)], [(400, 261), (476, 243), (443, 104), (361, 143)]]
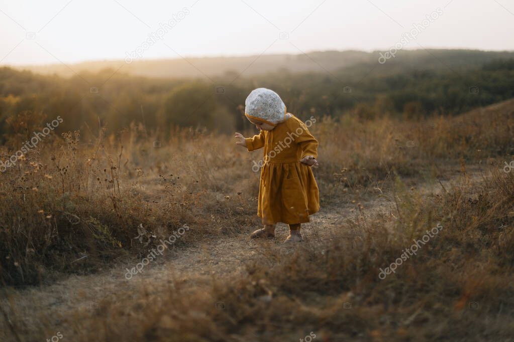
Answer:
[[(425, 68), (415, 61), (391, 59), (337, 71), (281, 72), (245, 77), (236, 72), (210, 79), (130, 76), (112, 69), (71, 78), (42, 76), (0, 68), (0, 134), (8, 119), (27, 111), (60, 115), (58, 131), (96, 133), (98, 126), (119, 132), (138, 123), (168, 136), (175, 127), (230, 133), (250, 127), (243, 116), (248, 93), (257, 87), (277, 91), (289, 112), (362, 119), (380, 115), (406, 118), (453, 115), (514, 97), (514, 59), (477, 67), (455, 63)], [(38, 116), (39, 117), (39, 116)]]

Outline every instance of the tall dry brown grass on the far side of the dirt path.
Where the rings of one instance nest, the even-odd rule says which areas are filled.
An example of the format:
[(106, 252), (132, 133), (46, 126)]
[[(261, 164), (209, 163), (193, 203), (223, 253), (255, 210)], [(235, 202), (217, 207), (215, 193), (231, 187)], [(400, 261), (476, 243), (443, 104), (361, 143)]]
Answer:
[[(393, 170), (419, 176), (459, 160), (510, 153), (511, 108), (504, 103), (486, 115), (477, 111), (419, 123), (318, 119), (311, 130), (320, 140), (322, 167), (316, 177), (322, 200), (338, 204), (345, 191), (382, 189)], [(13, 128), (22, 133), (11, 137), (3, 160), (22, 146), (23, 132), (36, 130), (23, 115), (26, 127)], [(200, 234), (241, 232), (238, 227), (259, 224), (254, 217), (258, 174), (250, 170), (260, 151), (248, 154), (230, 137), (193, 130), (175, 131), (160, 148), (153, 140), (137, 126), (111, 136), (101, 131), (91, 144), (82, 144), (79, 132), (47, 137), (2, 174), (2, 282), (37, 284), (48, 268), (82, 272), (125, 252), (137, 254), (133, 237), (140, 224), (157, 240), (184, 223), (201, 227)], [(180, 243), (188, 239), (194, 234)], [(85, 255), (79, 265), (71, 264)]]

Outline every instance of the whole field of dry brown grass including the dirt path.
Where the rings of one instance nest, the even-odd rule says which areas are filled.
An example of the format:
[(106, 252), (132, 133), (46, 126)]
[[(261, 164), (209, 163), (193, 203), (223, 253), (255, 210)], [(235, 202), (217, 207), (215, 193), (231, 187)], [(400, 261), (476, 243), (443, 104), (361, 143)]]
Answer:
[[(510, 100), (422, 122), (317, 118), (322, 211), (296, 250), (248, 242), (261, 156), (231, 137), (48, 137), (0, 176), (0, 337), (509, 340), (514, 175), (501, 170), (513, 114)], [(23, 141), (13, 136), (2, 159)], [(184, 224), (155, 265), (123, 277)]]

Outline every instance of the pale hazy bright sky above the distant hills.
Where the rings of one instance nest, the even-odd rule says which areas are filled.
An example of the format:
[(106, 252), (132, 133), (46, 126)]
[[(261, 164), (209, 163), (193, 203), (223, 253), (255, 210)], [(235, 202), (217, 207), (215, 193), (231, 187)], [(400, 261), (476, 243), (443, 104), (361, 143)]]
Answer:
[(386, 50), (434, 12), (403, 48), (514, 50), (513, 0), (0, 0), (0, 64)]

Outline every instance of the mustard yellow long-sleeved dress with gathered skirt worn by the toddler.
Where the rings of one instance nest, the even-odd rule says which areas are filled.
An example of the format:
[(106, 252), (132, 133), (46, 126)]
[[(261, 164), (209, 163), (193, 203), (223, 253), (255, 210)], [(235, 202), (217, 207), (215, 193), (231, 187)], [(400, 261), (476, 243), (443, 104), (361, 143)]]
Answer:
[(318, 140), (292, 115), (271, 131), (246, 138), (248, 151), (264, 147), (259, 186), (258, 215), (264, 225), (309, 222), (318, 212), (319, 190), (304, 156), (318, 157)]

